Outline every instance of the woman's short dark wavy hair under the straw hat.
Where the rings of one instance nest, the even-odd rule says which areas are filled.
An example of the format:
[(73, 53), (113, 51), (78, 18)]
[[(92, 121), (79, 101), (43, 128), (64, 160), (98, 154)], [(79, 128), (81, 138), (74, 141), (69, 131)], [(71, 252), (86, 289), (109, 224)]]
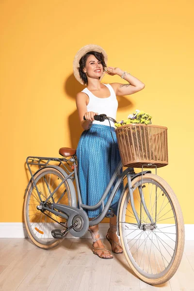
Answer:
[[(79, 62), (80, 67), (78, 67), (78, 70), (79, 70), (80, 78), (82, 79), (82, 81), (84, 82), (85, 85), (88, 84), (88, 80), (87, 80), (86, 73), (83, 72), (83, 68), (85, 67), (87, 58), (91, 54), (94, 55), (98, 61), (101, 61), (101, 64), (103, 66), (103, 71), (104, 71), (104, 68), (106, 67), (106, 64), (104, 62), (104, 55), (102, 52), (92, 50), (92, 51), (88, 51), (84, 56), (82, 56), (80, 59), (80, 62)], [(99, 79), (100, 79), (100, 77), (99, 77)]]

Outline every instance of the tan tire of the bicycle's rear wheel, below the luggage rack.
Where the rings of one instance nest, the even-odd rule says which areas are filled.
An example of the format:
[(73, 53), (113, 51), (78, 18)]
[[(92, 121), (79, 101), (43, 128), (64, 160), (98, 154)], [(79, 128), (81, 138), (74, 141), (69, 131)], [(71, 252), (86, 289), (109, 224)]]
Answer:
[[(57, 169), (55, 169), (55, 168), (50, 168), (50, 169), (52, 169), (52, 171), (56, 171), (60, 175), (62, 175), (62, 173), (60, 171), (58, 171)], [(36, 179), (41, 173), (46, 172), (48, 170), (49, 170), (49, 167), (46, 167), (44, 169), (41, 169), (37, 174), (34, 175), (34, 179)], [(68, 187), (68, 183), (66, 183), (66, 185)], [(55, 242), (53, 242), (53, 243), (51, 243), (49, 245), (45, 245), (45, 244), (41, 244), (39, 242), (36, 242), (36, 240), (32, 237), (32, 234), (30, 232), (30, 229), (28, 227), (27, 220), (26, 220), (26, 203), (27, 203), (27, 199), (28, 199), (28, 195), (29, 195), (29, 191), (31, 189), (31, 186), (32, 186), (32, 183), (30, 183), (30, 185), (28, 187), (28, 190), (27, 190), (26, 196), (25, 196), (25, 200), (24, 200), (24, 223), (25, 223), (25, 226), (26, 226), (26, 230), (27, 230), (27, 233), (28, 233), (30, 239), (32, 240), (32, 242), (36, 246), (38, 246), (40, 248), (43, 248), (43, 249), (51, 249), (51, 248), (57, 246), (60, 242), (62, 242), (65, 239), (65, 237), (63, 239), (58, 239), (58, 240), (56, 240)], [(70, 194), (70, 189), (68, 188), (68, 190), (69, 190), (69, 194)], [(71, 194), (70, 194), (70, 197), (71, 197)]]

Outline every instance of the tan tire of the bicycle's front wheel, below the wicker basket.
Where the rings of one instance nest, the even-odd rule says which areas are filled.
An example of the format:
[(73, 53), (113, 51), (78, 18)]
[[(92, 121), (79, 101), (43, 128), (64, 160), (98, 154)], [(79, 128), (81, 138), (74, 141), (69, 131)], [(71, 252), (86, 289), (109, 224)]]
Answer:
[[(151, 178), (154, 181), (157, 181), (166, 191), (166, 193), (168, 194), (173, 206), (174, 206), (174, 210), (175, 210), (175, 214), (177, 217), (177, 225), (178, 225), (178, 245), (177, 245), (177, 253), (175, 255), (175, 259), (174, 262), (172, 264), (172, 266), (170, 267), (170, 269), (168, 270), (168, 272), (163, 275), (162, 277), (158, 278), (158, 279), (149, 279), (143, 275), (141, 275), (133, 266), (132, 262), (130, 261), (127, 251), (125, 249), (125, 245), (124, 245), (124, 241), (123, 241), (123, 236), (122, 236), (122, 227), (121, 227), (121, 223), (119, 224), (119, 233), (120, 233), (120, 240), (122, 243), (122, 247), (123, 247), (123, 251), (125, 254), (125, 257), (129, 263), (130, 268), (133, 270), (133, 272), (138, 275), (138, 277), (143, 280), (144, 282), (151, 284), (151, 285), (159, 285), (159, 284), (163, 284), (165, 282), (167, 282), (177, 271), (178, 266), (180, 264), (180, 261), (182, 259), (182, 255), (183, 255), (183, 250), (184, 250), (184, 242), (185, 242), (185, 235), (184, 235), (184, 221), (183, 221), (183, 216), (182, 216), (182, 211), (178, 202), (178, 199), (175, 195), (175, 193), (173, 192), (172, 188), (168, 185), (168, 183), (166, 183), (161, 177), (154, 175), (154, 174), (146, 174), (144, 175), (144, 178)], [(132, 186), (141, 180), (141, 176), (135, 178), (132, 181)], [(119, 210), (119, 221), (121, 221), (122, 219), (122, 212), (123, 212), (123, 207), (124, 207), (124, 202), (125, 202), (125, 198), (127, 196), (127, 192), (128, 192), (128, 188), (126, 189), (122, 201), (121, 201), (121, 206), (120, 206), (120, 210)]]

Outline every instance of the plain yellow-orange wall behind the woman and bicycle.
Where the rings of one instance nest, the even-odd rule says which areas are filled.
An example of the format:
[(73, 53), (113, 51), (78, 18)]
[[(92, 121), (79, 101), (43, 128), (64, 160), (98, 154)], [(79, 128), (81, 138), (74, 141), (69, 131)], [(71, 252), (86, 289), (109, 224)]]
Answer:
[[(81, 127), (72, 72), (82, 46), (98, 44), (108, 65), (146, 84), (119, 97), (117, 120), (135, 109), (168, 127), (169, 165), (158, 170), (194, 224), (194, 3), (163, 1), (0, 1), (0, 222), (21, 222), (29, 155), (59, 157)], [(125, 82), (105, 75), (103, 82)], [(106, 221), (106, 220), (105, 220)]]

